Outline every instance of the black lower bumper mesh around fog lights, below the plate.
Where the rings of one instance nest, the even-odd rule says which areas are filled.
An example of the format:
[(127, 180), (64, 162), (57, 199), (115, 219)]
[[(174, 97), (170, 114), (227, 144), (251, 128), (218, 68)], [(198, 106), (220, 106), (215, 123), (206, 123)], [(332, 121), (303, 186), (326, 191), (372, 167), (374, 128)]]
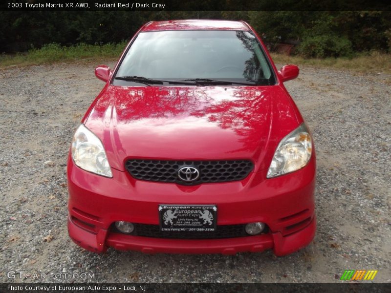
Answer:
[[(111, 230), (121, 233), (115, 225), (111, 226)], [(268, 228), (265, 227), (262, 234), (267, 232)], [(159, 225), (134, 224), (134, 231), (129, 235), (171, 239), (219, 239), (250, 236), (246, 233), (244, 224), (217, 226), (216, 231), (160, 231)]]

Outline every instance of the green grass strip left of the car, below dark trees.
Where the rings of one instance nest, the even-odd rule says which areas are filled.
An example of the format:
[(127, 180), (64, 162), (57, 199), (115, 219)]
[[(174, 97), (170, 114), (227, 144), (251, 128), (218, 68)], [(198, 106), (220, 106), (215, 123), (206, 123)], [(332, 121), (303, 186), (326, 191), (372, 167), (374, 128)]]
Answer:
[(66, 47), (57, 43), (44, 45), (41, 49), (31, 49), (27, 53), (16, 55), (0, 55), (0, 66), (26, 66), (52, 64), (61, 62), (100, 61), (118, 59), (126, 46), (126, 42), (117, 44), (88, 45), (80, 43)]

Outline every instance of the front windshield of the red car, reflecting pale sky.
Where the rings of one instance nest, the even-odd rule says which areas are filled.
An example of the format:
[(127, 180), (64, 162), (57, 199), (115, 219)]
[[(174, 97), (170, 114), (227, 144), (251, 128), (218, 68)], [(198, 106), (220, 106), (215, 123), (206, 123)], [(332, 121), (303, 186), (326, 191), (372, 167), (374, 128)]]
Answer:
[(199, 80), (275, 84), (256, 37), (247, 31), (228, 30), (139, 33), (117, 70), (114, 84), (148, 83), (140, 78), (187, 80), (187, 84)]

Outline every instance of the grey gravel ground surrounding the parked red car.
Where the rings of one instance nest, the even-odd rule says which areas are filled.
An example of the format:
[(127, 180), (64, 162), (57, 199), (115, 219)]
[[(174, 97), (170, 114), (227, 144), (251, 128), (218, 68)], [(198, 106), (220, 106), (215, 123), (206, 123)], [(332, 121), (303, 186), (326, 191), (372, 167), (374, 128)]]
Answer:
[[(112, 64), (110, 64), (112, 65)], [(286, 86), (316, 148), (318, 230), (307, 248), (223, 255), (97, 255), (66, 231), (65, 165), (74, 130), (103, 87), (93, 64), (0, 70), (0, 281), (9, 271), (90, 272), (91, 282), (341, 282), (347, 269), (391, 282), (391, 76), (301, 67)], [(49, 237), (48, 237), (49, 236)], [(35, 279), (33, 281), (41, 281)]]

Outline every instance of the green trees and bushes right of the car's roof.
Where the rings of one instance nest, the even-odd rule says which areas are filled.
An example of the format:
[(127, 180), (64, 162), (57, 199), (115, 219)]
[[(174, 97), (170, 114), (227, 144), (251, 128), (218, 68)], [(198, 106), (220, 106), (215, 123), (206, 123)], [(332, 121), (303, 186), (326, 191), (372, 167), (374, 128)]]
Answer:
[(251, 11), (249, 21), (266, 42), (299, 43), (308, 57), (390, 51), (390, 11)]

